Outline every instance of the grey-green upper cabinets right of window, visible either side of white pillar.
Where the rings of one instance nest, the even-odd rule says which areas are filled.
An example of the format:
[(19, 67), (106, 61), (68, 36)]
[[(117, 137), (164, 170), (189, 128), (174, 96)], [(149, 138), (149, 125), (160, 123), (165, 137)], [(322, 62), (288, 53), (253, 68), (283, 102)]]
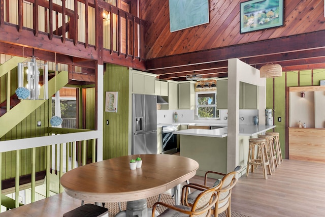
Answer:
[[(239, 109), (258, 108), (258, 86), (239, 82)], [(228, 80), (217, 80), (217, 108), (228, 109)]]

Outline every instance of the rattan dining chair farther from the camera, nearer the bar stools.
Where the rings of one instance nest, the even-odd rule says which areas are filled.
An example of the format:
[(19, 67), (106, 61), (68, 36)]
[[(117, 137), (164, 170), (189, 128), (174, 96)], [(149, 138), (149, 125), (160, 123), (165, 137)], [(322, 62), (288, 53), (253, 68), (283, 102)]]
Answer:
[[(205, 174), (205, 179), (204, 179), (204, 185), (202, 184), (197, 184), (197, 183), (190, 183), (191, 185), (196, 186), (197, 190), (193, 191), (191, 194), (188, 194), (188, 192), (184, 191), (184, 195), (182, 195), (182, 201), (185, 202), (185, 205), (190, 206), (193, 204), (194, 199), (199, 195), (202, 191), (205, 191), (208, 188), (207, 186), (207, 178), (209, 174), (218, 174), (223, 176), (222, 178), (222, 184), (221, 187), (216, 190), (217, 195), (219, 197), (218, 203), (215, 204), (211, 209), (213, 210), (213, 214), (215, 217), (218, 216), (218, 213), (221, 213), (223, 211), (226, 211), (225, 214), (228, 217), (231, 217), (231, 195), (232, 195), (232, 189), (234, 188), (237, 179), (236, 179), (236, 174), (240, 172), (241, 166), (237, 166), (234, 171), (228, 173), (228, 174), (223, 174), (215, 171), (208, 171)], [(216, 181), (218, 182), (218, 181)], [(216, 183), (214, 183), (215, 185)], [(201, 189), (200, 189), (201, 188)], [(217, 208), (215, 208), (217, 207)]]

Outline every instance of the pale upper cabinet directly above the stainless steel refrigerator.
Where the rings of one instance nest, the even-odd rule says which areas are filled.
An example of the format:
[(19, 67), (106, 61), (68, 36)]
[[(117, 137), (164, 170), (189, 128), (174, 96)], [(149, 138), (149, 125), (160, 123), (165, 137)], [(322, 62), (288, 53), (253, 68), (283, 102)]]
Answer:
[(130, 69), (132, 92), (134, 94), (155, 95), (155, 76), (154, 74)]

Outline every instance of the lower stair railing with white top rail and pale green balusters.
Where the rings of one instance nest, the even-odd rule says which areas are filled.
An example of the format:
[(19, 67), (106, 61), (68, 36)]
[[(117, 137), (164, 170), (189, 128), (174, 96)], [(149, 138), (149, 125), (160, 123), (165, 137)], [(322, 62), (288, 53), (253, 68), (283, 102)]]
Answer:
[[(48, 136), (37, 137), (37, 138), (27, 138), (27, 139), (17, 139), (9, 141), (0, 141), (0, 146), (2, 147), (2, 153), (6, 155), (9, 151), (13, 151), (15, 163), (12, 165), (12, 169), (15, 170), (15, 177), (20, 177), (20, 169), (22, 164), (29, 162), (30, 172), (30, 182), (22, 185), (19, 178), (15, 178), (15, 186), (12, 187), (12, 192), (15, 193), (15, 207), (19, 204), (19, 192), (24, 189), (30, 190), (30, 198), (26, 201), (35, 202), (36, 198), (36, 174), (37, 174), (37, 158), (44, 159), (46, 177), (43, 181), (45, 186), (44, 196), (49, 197), (53, 193), (63, 192), (63, 188), (59, 184), (59, 179), (63, 173), (74, 169), (78, 166), (85, 165), (87, 163), (96, 162), (96, 157), (98, 150), (96, 149), (96, 141), (98, 138), (102, 137), (102, 132), (94, 130), (81, 130), (81, 129), (62, 129), (62, 128), (48, 128)], [(43, 148), (43, 152), (40, 149)], [(79, 149), (77, 151), (77, 149)], [(28, 151), (30, 160), (20, 161), (20, 153), (22, 151)], [(44, 155), (42, 155), (44, 154)], [(78, 160), (78, 154), (80, 159)], [(0, 164), (2, 164), (2, 156), (0, 154)], [(79, 163), (78, 163), (79, 162)], [(0, 165), (0, 168), (3, 168)], [(57, 182), (53, 186), (53, 181), (51, 181), (51, 172), (57, 174)], [(2, 179), (2, 172), (0, 172), (0, 180)], [(53, 173), (52, 173), (53, 174)], [(52, 175), (53, 177), (53, 175)], [(0, 182), (1, 185), (1, 182)], [(6, 205), (7, 201), (1, 200), (0, 205)]]

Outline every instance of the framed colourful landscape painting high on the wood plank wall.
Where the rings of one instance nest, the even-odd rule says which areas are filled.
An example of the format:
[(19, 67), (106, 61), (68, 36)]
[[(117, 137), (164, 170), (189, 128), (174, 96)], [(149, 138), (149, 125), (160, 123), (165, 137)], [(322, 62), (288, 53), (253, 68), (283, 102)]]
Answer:
[(283, 25), (283, 0), (252, 0), (240, 3), (240, 33)]

